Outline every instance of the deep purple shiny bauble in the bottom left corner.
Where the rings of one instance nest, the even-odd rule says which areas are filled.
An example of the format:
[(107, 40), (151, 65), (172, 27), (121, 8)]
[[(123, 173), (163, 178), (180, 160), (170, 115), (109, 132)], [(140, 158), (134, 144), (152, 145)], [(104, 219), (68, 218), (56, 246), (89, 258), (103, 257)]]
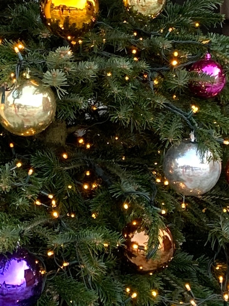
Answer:
[(28, 251), (0, 254), (0, 306), (34, 306), (42, 283), (41, 265)]

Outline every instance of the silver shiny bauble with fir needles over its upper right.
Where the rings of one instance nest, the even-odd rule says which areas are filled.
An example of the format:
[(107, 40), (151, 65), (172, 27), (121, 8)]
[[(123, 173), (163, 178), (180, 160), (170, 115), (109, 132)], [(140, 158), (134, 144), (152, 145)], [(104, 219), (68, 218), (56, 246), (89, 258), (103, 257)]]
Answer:
[(210, 151), (204, 155), (190, 140), (172, 146), (163, 161), (163, 170), (172, 188), (185, 196), (200, 196), (217, 183), (221, 162), (213, 161)]

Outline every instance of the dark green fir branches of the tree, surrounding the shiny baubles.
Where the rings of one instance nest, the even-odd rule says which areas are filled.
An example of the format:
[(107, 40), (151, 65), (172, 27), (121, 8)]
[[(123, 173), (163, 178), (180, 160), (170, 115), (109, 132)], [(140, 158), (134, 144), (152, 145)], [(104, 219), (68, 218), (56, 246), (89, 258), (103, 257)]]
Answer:
[[(227, 305), (225, 173), (208, 193), (186, 197), (184, 208), (162, 171), (166, 151), (191, 131), (202, 152), (222, 159), (223, 169), (228, 161), (229, 83), (210, 99), (189, 88), (192, 81), (212, 80), (189, 71), (209, 50), (229, 77), (229, 37), (207, 32), (224, 21), (215, 12), (223, 1), (167, 0), (151, 19), (127, 11), (122, 0), (99, 0), (94, 29), (75, 45), (45, 28), (37, 0), (5, 2), (2, 86), (12, 86), (15, 77), (23, 84), (29, 70), (57, 100), (55, 122), (38, 135), (15, 136), (0, 126), (0, 253), (20, 245), (42, 259), (37, 306), (191, 305), (191, 294), (197, 305)], [(19, 43), (23, 61), (14, 50)], [(193, 114), (191, 105), (199, 111)], [(147, 228), (152, 256), (159, 230), (172, 232), (174, 258), (153, 275), (137, 272), (125, 255), (123, 229), (134, 219)]]

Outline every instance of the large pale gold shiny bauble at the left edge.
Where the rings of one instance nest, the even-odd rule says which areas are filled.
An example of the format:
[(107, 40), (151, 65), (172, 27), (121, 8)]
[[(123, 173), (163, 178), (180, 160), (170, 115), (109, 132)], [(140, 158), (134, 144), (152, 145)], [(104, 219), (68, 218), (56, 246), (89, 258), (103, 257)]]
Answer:
[(39, 80), (28, 79), (11, 90), (1, 90), (0, 101), (0, 124), (16, 135), (35, 135), (55, 117), (54, 93)]

